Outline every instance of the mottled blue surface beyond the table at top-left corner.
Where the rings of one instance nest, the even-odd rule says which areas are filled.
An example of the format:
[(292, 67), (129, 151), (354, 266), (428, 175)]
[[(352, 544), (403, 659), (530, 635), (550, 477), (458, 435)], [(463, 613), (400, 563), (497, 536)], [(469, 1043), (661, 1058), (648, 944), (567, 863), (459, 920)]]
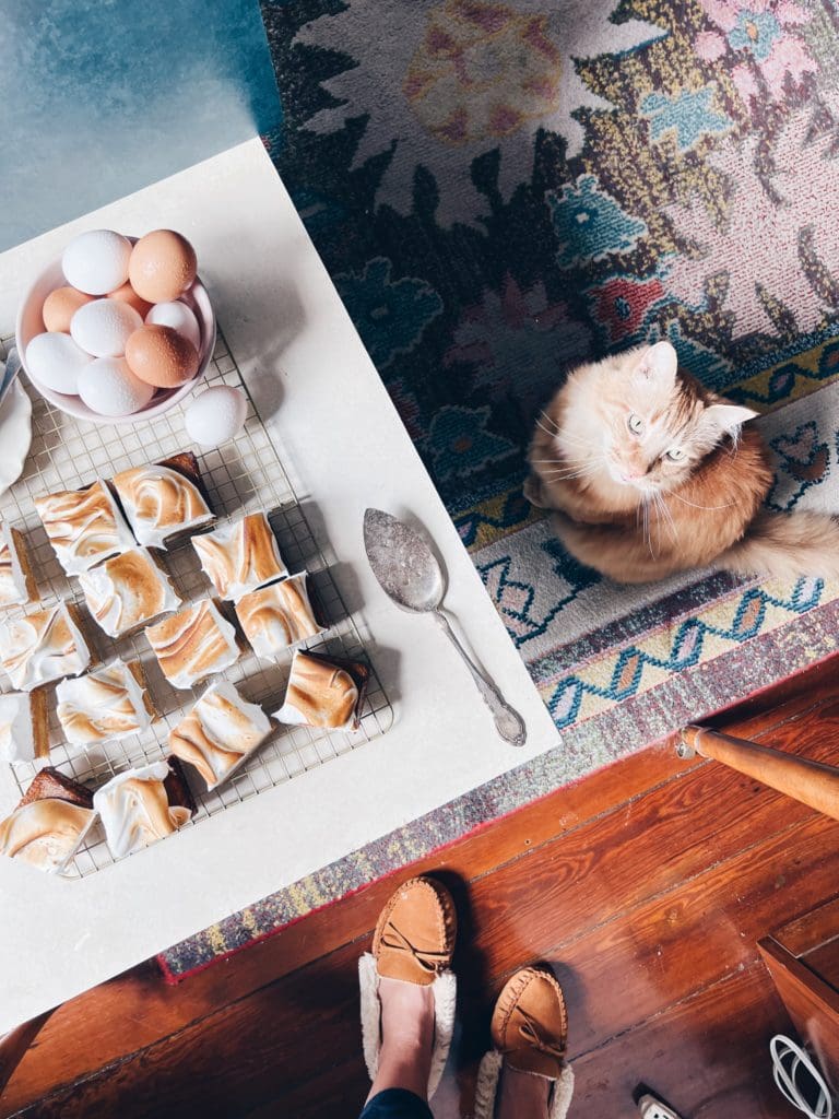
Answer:
[(0, 250), (280, 126), (258, 0), (0, 8)]

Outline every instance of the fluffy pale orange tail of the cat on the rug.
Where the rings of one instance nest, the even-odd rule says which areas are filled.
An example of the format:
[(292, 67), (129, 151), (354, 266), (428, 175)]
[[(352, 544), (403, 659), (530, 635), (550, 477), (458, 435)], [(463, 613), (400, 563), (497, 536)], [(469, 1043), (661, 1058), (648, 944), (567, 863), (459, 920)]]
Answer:
[(839, 519), (822, 513), (761, 513), (714, 566), (770, 579), (839, 579)]

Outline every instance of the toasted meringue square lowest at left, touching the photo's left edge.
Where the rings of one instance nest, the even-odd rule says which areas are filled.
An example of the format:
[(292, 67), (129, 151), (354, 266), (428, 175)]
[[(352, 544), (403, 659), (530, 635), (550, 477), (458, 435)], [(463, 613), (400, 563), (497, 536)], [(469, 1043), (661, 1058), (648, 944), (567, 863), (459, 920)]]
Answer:
[(89, 790), (48, 765), (11, 815), (0, 820), (0, 855), (60, 874), (94, 817)]

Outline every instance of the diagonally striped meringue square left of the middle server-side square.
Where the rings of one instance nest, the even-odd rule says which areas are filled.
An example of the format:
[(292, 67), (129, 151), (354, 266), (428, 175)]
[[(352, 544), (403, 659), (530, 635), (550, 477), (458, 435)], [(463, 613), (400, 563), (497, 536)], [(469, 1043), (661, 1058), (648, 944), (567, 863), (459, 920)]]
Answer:
[(191, 688), (239, 659), (236, 630), (210, 599), (150, 626), (145, 636), (163, 676), (176, 688)]

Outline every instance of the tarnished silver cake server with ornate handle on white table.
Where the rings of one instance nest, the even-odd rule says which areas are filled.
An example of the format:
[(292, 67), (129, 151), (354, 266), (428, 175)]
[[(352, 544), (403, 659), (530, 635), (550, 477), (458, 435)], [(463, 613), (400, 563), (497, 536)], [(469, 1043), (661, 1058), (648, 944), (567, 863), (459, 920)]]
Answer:
[(432, 614), (449, 637), (472, 674), (505, 742), (524, 746), (527, 740), (524, 720), (478, 668), (440, 609), (445, 591), (443, 571), (427, 540), (389, 513), (368, 509), (365, 513), (365, 551), (374, 575), (396, 605), (415, 614)]

